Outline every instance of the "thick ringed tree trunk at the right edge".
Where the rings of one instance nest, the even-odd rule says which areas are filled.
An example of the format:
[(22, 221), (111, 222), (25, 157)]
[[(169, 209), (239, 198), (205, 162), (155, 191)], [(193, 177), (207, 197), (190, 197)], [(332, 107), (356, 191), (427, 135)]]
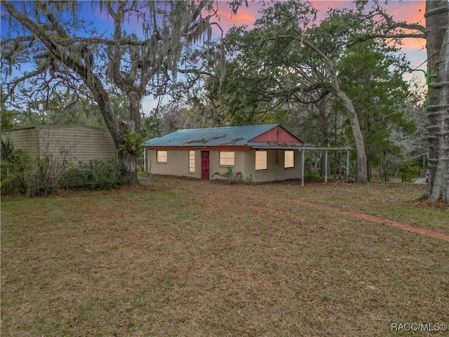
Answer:
[(449, 3), (426, 1), (429, 183), (422, 199), (449, 201)]

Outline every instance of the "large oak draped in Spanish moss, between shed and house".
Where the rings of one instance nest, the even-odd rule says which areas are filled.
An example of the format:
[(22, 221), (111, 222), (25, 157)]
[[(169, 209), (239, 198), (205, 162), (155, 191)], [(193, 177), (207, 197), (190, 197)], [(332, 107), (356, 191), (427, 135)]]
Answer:
[[(192, 58), (212, 37), (214, 1), (1, 1), (2, 84), (13, 100), (20, 91), (88, 89), (117, 149), (138, 140), (142, 98), (171, 90), (178, 74), (220, 64)], [(98, 20), (89, 23), (86, 16)], [(100, 25), (102, 16), (107, 25)], [(4, 29), (3, 29), (4, 30)], [(208, 48), (207, 48), (208, 49)], [(119, 119), (109, 92), (128, 100)], [(119, 151), (128, 185), (137, 185), (135, 152)]]

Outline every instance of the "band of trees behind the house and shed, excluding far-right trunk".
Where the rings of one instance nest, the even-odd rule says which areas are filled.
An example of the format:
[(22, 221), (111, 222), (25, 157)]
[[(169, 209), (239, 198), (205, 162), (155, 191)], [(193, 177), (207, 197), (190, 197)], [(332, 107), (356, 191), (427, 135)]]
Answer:
[[(105, 39), (86, 38), (88, 29), (92, 35), (98, 28), (94, 22), (83, 26), (86, 34), (76, 37), (80, 22), (60, 21), (56, 31), (62, 35), (55, 39), (51, 25), (57, 15), (45, 25), (40, 20), (47, 16), (38, 20), (33, 13), (70, 15), (67, 8), (33, 3), (29, 13), (26, 7), (22, 13), (6, 1), (5, 13), (11, 18), (24, 24), (31, 15), (36, 22), (27, 29), (41, 27), (49, 33), (41, 30), (40, 44), (26, 34), (4, 39), (2, 60), (9, 65), (2, 72), (5, 79), (11, 67), (20, 64), (13, 56), (30, 61), (30, 55), (39, 53), (39, 58), (36, 77), (26, 74), (4, 81), (2, 129), (100, 126), (109, 128), (119, 149), (129, 134), (153, 138), (178, 128), (280, 123), (306, 143), (354, 147), (351, 166), (359, 182), (375, 176), (388, 180), (406, 167), (427, 166), (422, 85), (403, 80), (410, 64), (400, 52), (401, 39), (424, 38), (424, 27), (394, 22), (384, 8), (369, 8), (366, 1), (330, 9), (321, 20), (307, 2), (274, 1), (262, 8), (251, 29), (233, 27), (222, 39), (211, 41), (213, 1), (167, 4), (138, 8), (134, 3), (99, 3), (120, 31)], [(233, 10), (240, 4), (234, 1)], [(82, 6), (75, 5), (73, 15)], [(207, 12), (204, 18), (201, 6)], [(145, 11), (153, 15), (154, 25), (143, 19)], [(147, 22), (142, 25), (145, 41), (125, 34), (123, 19), (131, 13), (142, 14), (142, 22)], [(157, 27), (158, 22), (164, 26)], [(409, 29), (407, 34), (404, 29)], [(164, 38), (170, 34), (172, 39)], [(48, 49), (47, 40), (59, 49)], [(36, 90), (27, 90), (33, 84)], [(142, 111), (145, 96), (172, 99), (149, 112)], [(316, 156), (321, 162), (321, 153)], [(130, 185), (137, 182), (137, 160), (133, 153), (121, 157)], [(337, 156), (331, 161), (335, 175), (340, 161)], [(317, 173), (323, 175), (325, 169), (329, 168), (321, 166)]]

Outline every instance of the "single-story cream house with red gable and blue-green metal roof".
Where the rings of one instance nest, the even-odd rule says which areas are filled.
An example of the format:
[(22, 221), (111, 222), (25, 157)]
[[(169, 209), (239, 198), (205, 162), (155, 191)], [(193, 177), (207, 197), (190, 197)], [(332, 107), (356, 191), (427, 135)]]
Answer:
[(147, 172), (210, 179), (232, 167), (254, 182), (302, 177), (307, 147), (279, 124), (178, 130), (144, 143)]

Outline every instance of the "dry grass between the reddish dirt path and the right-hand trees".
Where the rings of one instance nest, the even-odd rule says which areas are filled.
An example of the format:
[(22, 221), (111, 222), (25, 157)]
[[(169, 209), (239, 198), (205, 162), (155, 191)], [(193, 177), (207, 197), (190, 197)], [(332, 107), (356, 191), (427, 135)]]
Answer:
[(449, 234), (449, 204), (417, 201), (424, 193), (425, 185), (335, 182), (307, 183), (303, 189), (298, 189), (298, 184), (293, 182), (267, 184), (261, 185), (260, 190), (281, 197), (304, 199), (316, 204), (358, 211)]

